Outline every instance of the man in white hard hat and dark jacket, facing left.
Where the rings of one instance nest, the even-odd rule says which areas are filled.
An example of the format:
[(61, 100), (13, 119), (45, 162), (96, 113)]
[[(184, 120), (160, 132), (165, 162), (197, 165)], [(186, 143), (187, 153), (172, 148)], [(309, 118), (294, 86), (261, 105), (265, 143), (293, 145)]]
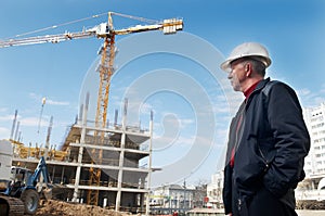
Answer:
[(295, 91), (264, 78), (271, 59), (256, 42), (236, 47), (221, 64), (245, 100), (233, 118), (224, 168), (226, 215), (291, 216), (304, 178), (310, 137)]

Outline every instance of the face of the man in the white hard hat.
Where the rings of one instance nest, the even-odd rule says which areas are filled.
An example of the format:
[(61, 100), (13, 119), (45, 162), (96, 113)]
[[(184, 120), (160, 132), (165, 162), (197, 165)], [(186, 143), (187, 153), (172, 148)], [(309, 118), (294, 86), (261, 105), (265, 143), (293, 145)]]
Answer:
[(243, 82), (246, 80), (245, 72), (246, 63), (243, 60), (235, 60), (231, 63), (231, 72), (227, 75), (227, 78), (231, 81), (231, 85), (235, 91), (243, 91)]

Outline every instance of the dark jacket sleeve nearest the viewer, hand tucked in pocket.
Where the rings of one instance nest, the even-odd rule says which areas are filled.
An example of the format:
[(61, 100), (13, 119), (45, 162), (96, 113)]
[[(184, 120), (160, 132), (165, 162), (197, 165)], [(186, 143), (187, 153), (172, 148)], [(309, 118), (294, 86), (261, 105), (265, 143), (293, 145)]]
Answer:
[(263, 183), (270, 192), (281, 198), (302, 180), (310, 136), (298, 98), (287, 85), (278, 82), (272, 87), (266, 107), (276, 153)]

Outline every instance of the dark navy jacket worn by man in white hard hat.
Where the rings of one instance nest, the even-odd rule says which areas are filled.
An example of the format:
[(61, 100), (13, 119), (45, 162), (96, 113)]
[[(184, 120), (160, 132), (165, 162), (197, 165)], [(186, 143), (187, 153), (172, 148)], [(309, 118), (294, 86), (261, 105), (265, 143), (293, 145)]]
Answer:
[(224, 168), (225, 213), (234, 212), (237, 200), (253, 196), (261, 187), (295, 207), (295, 196), (288, 191), (304, 178), (309, 149), (310, 137), (295, 91), (270, 78), (260, 81), (231, 123)]

